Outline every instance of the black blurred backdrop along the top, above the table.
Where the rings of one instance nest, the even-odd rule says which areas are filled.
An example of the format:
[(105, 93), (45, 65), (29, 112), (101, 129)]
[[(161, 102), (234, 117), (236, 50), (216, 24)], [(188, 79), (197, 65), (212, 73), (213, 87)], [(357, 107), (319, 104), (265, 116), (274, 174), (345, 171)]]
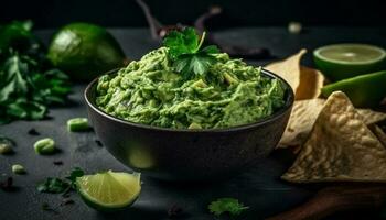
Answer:
[[(385, 26), (385, 0), (147, 0), (164, 24), (191, 24), (210, 6), (223, 8), (210, 26), (305, 25)], [(146, 26), (135, 0), (6, 0), (0, 23), (31, 19), (37, 29), (57, 28), (73, 21), (105, 26)]]

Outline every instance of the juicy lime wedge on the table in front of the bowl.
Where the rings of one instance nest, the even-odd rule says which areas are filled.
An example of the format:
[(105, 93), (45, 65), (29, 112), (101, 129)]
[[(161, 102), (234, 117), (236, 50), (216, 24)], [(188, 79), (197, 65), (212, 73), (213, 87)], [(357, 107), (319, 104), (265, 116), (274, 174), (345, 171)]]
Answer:
[(132, 205), (141, 191), (140, 174), (104, 172), (76, 178), (83, 200), (100, 211), (120, 210)]

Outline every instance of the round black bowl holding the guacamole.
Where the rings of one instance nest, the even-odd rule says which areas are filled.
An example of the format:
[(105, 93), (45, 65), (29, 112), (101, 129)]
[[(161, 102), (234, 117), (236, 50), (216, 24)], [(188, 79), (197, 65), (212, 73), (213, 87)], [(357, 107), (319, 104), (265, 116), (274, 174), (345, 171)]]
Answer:
[(98, 78), (86, 88), (85, 99), (97, 136), (125, 165), (160, 179), (214, 180), (254, 166), (275, 148), (286, 129), (293, 91), (277, 75), (262, 75), (283, 81), (285, 106), (256, 123), (227, 129), (175, 130), (118, 119), (95, 105)]

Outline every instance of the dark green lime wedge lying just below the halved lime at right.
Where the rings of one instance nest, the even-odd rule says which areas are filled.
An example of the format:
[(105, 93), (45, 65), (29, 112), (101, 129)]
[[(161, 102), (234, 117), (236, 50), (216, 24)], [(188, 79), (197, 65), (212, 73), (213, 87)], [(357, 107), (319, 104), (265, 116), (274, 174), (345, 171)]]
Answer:
[(322, 88), (329, 97), (341, 90), (349, 96), (355, 107), (375, 107), (386, 97), (386, 70), (343, 79)]

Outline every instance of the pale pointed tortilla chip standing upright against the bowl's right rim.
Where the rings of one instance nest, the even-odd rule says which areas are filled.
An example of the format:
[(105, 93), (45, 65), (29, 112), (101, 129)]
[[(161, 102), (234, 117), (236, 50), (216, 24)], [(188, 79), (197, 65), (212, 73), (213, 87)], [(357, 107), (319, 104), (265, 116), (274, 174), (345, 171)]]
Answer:
[(300, 50), (297, 54), (265, 66), (266, 69), (281, 76), (296, 91), (300, 84), (300, 59), (305, 54), (305, 50)]

